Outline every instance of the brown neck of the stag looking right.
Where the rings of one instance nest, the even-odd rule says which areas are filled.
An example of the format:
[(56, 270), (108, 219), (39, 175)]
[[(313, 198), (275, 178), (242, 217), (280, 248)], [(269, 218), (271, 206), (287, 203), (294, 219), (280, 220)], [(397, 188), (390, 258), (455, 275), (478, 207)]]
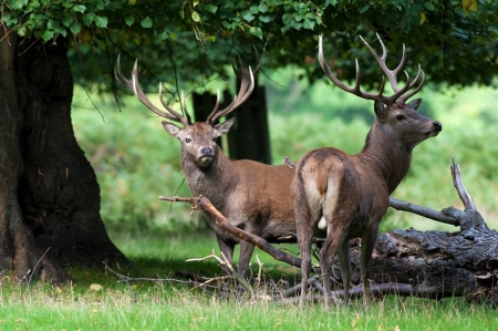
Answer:
[(380, 172), (391, 194), (409, 169), (413, 147), (375, 122), (366, 136), (365, 146), (357, 156), (363, 164), (371, 167), (371, 170)]

